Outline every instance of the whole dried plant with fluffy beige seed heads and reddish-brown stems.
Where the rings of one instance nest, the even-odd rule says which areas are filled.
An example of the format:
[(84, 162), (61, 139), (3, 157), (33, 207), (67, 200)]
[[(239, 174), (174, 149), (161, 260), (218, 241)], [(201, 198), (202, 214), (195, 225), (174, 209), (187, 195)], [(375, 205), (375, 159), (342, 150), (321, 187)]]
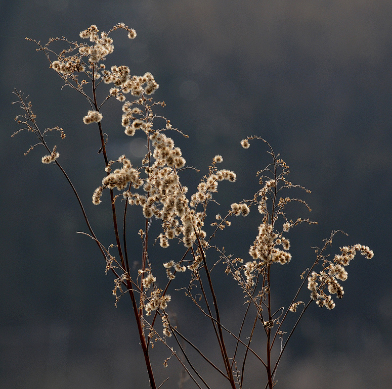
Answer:
[[(211, 319), (213, 331), (219, 342), (226, 373), (223, 373), (217, 367), (215, 368), (230, 381), (232, 388), (237, 387), (237, 384), (239, 387), (242, 387), (243, 374), (237, 369), (235, 362), (237, 347), (240, 344), (246, 347), (245, 359), (246, 354), (249, 351), (256, 355), (250, 348), (250, 341), (257, 321), (259, 320), (262, 323), (263, 329), (267, 335), (267, 360), (270, 360), (271, 350), (274, 346), (276, 337), (282, 338), (283, 342), (282, 336), (284, 332), (281, 330), (281, 326), (285, 321), (287, 313), (290, 311), (296, 312), (298, 307), (303, 305), (303, 310), (299, 317), (300, 319), (312, 301), (316, 301), (317, 305), (320, 307), (326, 306), (328, 309), (334, 308), (335, 303), (333, 302), (331, 295), (336, 295), (339, 299), (343, 297), (344, 292), (339, 281), (344, 281), (347, 278), (345, 267), (349, 265), (357, 252), (360, 252), (368, 259), (373, 257), (373, 252), (367, 246), (362, 245), (343, 247), (341, 248), (341, 254), (335, 255), (333, 261), (330, 261), (328, 260), (328, 256), (325, 256), (323, 253), (326, 247), (331, 243), (333, 233), (324, 248), (318, 254), (316, 261), (307, 275), (303, 277), (306, 272), (303, 273), (303, 283), (299, 287), (289, 308), (285, 313), (282, 311), (281, 315), (276, 317), (276, 314), (272, 311), (270, 296), (271, 267), (275, 266), (275, 263), (285, 265), (291, 260), (291, 254), (289, 253), (290, 241), (285, 236), (286, 233), (301, 222), (312, 224), (309, 219), (298, 218), (296, 221), (292, 221), (286, 218), (285, 207), (292, 201), (303, 204), (309, 211), (310, 208), (300, 199), (283, 197), (281, 192), (282, 190), (291, 188), (299, 188), (307, 192), (309, 192), (309, 190), (298, 185), (293, 185), (286, 179), (286, 176), (289, 173), (288, 166), (283, 160), (277, 159), (277, 156), (275, 156), (271, 146), (266, 140), (258, 136), (242, 139), (241, 145), (244, 149), (250, 147), (250, 140), (253, 139), (260, 139), (266, 142), (270, 148), (269, 154), (272, 156), (273, 163), (266, 169), (257, 173), (259, 176), (260, 189), (254, 194), (253, 199), (242, 200), (239, 203), (231, 204), (230, 210), (228, 210), (225, 217), (217, 214), (215, 216), (215, 221), (210, 223), (210, 226), (215, 227), (215, 229), (208, 237), (207, 232), (205, 231), (206, 228), (203, 228), (207, 217), (208, 204), (211, 201), (214, 201), (213, 196), (218, 190), (219, 182), (224, 180), (235, 182), (236, 174), (227, 169), (218, 169), (217, 165), (223, 162), (223, 158), (221, 155), (216, 155), (212, 159), (208, 174), (201, 179), (200, 183), (197, 185), (196, 191), (189, 195), (188, 188), (181, 183), (180, 179), (180, 174), (181, 171), (185, 169), (186, 161), (182, 156), (181, 149), (176, 147), (173, 139), (166, 135), (168, 131), (177, 131), (180, 134), (182, 134), (182, 132), (172, 128), (167, 119), (154, 113), (155, 106), (164, 106), (164, 103), (152, 102), (150, 97), (159, 87), (154, 80), (153, 75), (147, 72), (143, 76), (132, 76), (127, 66), (114, 65), (108, 70), (103, 64), (106, 56), (111, 54), (114, 50), (113, 39), (109, 37), (109, 34), (117, 29), (127, 31), (130, 39), (136, 37), (135, 30), (128, 28), (123, 23), (119, 23), (108, 33), (101, 32), (101, 34), (99, 34), (98, 28), (95, 25), (83, 30), (80, 33), (80, 37), (89, 39), (92, 44), (72, 42), (65, 38), (51, 39), (45, 46), (40, 45), (37, 41), (34, 42), (38, 44), (38, 50), (41, 50), (46, 54), (51, 62), (51, 68), (60, 75), (65, 84), (80, 92), (89, 102), (91, 109), (83, 117), (82, 121), (84, 124), (97, 123), (98, 125), (102, 145), (99, 153), (102, 152), (104, 155), (106, 172), (106, 176), (102, 179), (100, 186), (98, 186), (93, 193), (93, 204), (99, 205), (102, 201), (104, 189), (108, 189), (107, 191), (110, 192), (110, 201), (112, 203), (113, 224), (116, 235), (116, 245), (111, 245), (109, 249), (116, 247), (120, 259), (116, 260), (114, 256), (109, 254), (109, 249), (106, 250), (96, 238), (84, 209), (81, 206), (81, 201), (77, 192), (68, 176), (66, 176), (67, 180), (76, 194), (92, 237), (96, 240), (101, 253), (105, 257), (107, 265), (106, 271), (111, 270), (116, 276), (113, 289), (116, 303), (119, 296), (124, 293), (129, 293), (131, 296), (135, 317), (138, 323), (141, 345), (146, 359), (147, 370), (149, 372), (150, 383), (154, 381), (148, 357), (148, 344), (150, 338), (154, 336), (165, 343), (164, 339), (162, 339), (154, 329), (155, 317), (157, 315), (161, 317), (164, 337), (170, 337), (173, 333), (179, 333), (176, 326), (171, 324), (170, 317), (166, 312), (167, 304), (171, 300), (171, 297), (167, 294), (167, 288), (171, 280), (176, 277), (176, 273), (182, 273), (189, 270), (191, 273), (191, 281), (189, 287), (186, 288), (186, 294), (195, 302), (203, 315), (207, 315), (206, 312), (208, 312), (207, 316)], [(64, 41), (69, 44), (69, 48), (63, 50), (60, 54), (56, 54), (49, 48), (49, 44), (54, 41)], [(52, 55), (56, 55), (54, 61), (50, 59)], [(101, 82), (103, 84), (113, 84), (114, 86), (109, 89), (106, 99), (101, 104), (98, 104), (95, 92)], [(86, 85), (92, 86), (92, 95), (85, 92)], [(65, 174), (63, 168), (57, 161), (59, 158), (57, 147), (54, 146), (53, 149), (50, 149), (44, 138), (46, 132), (51, 130), (58, 130), (61, 133), (61, 137), (65, 137), (63, 130), (55, 127), (53, 129), (46, 129), (41, 133), (35, 123), (35, 116), (31, 112), (31, 105), (25, 104), (20, 93), (16, 92), (16, 94), (25, 111), (25, 115), (17, 117), (18, 123), (23, 123), (26, 126), (21, 130), (28, 129), (33, 131), (39, 139), (37, 144), (43, 145), (50, 153), (42, 158), (42, 163), (49, 164), (54, 162)], [(132, 98), (127, 100), (126, 96), (129, 94)], [(134, 136), (136, 132), (139, 131), (146, 139), (146, 154), (139, 167), (134, 167), (130, 160), (124, 155), (114, 161), (109, 161), (107, 157), (105, 148), (107, 139), (104, 139), (102, 130), (103, 115), (101, 113), (101, 108), (104, 103), (111, 98), (115, 98), (123, 103), (121, 125), (124, 127), (124, 133), (127, 136)], [(20, 119), (20, 117), (22, 117), (22, 119)], [(156, 124), (156, 121), (159, 120), (163, 120), (164, 123), (161, 128), (157, 127)], [(35, 146), (31, 147), (30, 150), (34, 147)], [(113, 165), (116, 164), (120, 164), (120, 167), (114, 169)], [(114, 196), (113, 189), (120, 191), (120, 195)], [(131, 274), (132, 272), (130, 271), (127, 262), (125, 232), (122, 244), (119, 239), (115, 204), (116, 199), (118, 198), (122, 198), (126, 206), (140, 206), (141, 212), (146, 219), (145, 229), (139, 231), (143, 241), (143, 254), (141, 268), (138, 270), (137, 276), (135, 277)], [(123, 218), (124, 231), (126, 206)], [(262, 220), (258, 226), (258, 232), (253, 244), (249, 249), (249, 255), (252, 260), (244, 264), (242, 258), (233, 259), (232, 256), (225, 254), (224, 249), (212, 246), (210, 242), (217, 231), (223, 230), (231, 225), (231, 222), (228, 220), (229, 217), (247, 216), (251, 207), (257, 208)], [(182, 242), (183, 246), (186, 248), (186, 253), (180, 260), (169, 260), (161, 264), (163, 265), (168, 278), (165, 288), (159, 286), (161, 283), (159, 283), (153, 275), (152, 261), (150, 261), (148, 257), (147, 236), (152, 218), (160, 220), (162, 230), (157, 236), (157, 239), (159, 239), (159, 244), (162, 248), (169, 247), (169, 241), (173, 239)], [(242, 326), (238, 337), (231, 333), (236, 339), (237, 347), (234, 352), (234, 357), (230, 358), (225, 347), (222, 331), (224, 327), (220, 319), (218, 304), (210, 276), (210, 265), (206, 260), (207, 251), (211, 249), (220, 253), (221, 260), (227, 265), (225, 273), (231, 274), (244, 291), (248, 308), (250, 304), (253, 304), (256, 307), (256, 317), (254, 319), (253, 329), (251, 330), (250, 335), (246, 337), (246, 339), (248, 339), (246, 341), (248, 342), (248, 345), (246, 346), (240, 339), (241, 331), (243, 330)], [(123, 253), (125, 253), (125, 255)], [(322, 262), (323, 268), (317, 273), (314, 268), (319, 262)], [(207, 281), (206, 283), (209, 287), (212, 303), (204, 293), (204, 286), (202, 283), (203, 276)], [(306, 279), (308, 280), (308, 289), (311, 290), (311, 299), (308, 304), (297, 301), (298, 294), (304, 285), (304, 282), (306, 282)], [(197, 302), (196, 296), (192, 294), (191, 288), (195, 283), (198, 283), (200, 290), (202, 290), (205, 309)], [(124, 287), (126, 287), (126, 291), (124, 291)], [(135, 292), (140, 295), (139, 306), (137, 306), (136, 303), (134, 296)], [(150, 316), (152, 313), (154, 313), (154, 317), (148, 322), (144, 317), (144, 314)], [(248, 309), (246, 310), (244, 321), (247, 314)], [(274, 375), (283, 350), (285, 349), (295, 326), (288, 335), (284, 346), (282, 343), (281, 352), (275, 363), (275, 367), (273, 367), (270, 362), (266, 364), (256, 355), (267, 369), (268, 386), (270, 388), (274, 385), (272, 376)], [(149, 335), (145, 335), (145, 327), (149, 329)], [(273, 330), (275, 330), (275, 334), (272, 334)], [(182, 338), (186, 339), (183, 336)], [(178, 342), (177, 337), (176, 340)], [(193, 345), (191, 346), (193, 347)], [(182, 349), (180, 343), (179, 347)], [(176, 354), (172, 348), (170, 348), (170, 350), (172, 355)], [(199, 352), (199, 350), (197, 351)], [(186, 355), (185, 359), (188, 361)], [(245, 359), (243, 361), (243, 366), (245, 366)], [(230, 362), (230, 360), (233, 362)], [(167, 365), (167, 360), (165, 361), (165, 365)], [(185, 367), (183, 363), (182, 365)], [(234, 379), (233, 375), (233, 366), (235, 366), (236, 379)], [(198, 376), (201, 378), (200, 375)], [(191, 378), (193, 379), (192, 376)], [(194, 380), (194, 382), (197, 383), (196, 380)], [(152, 384), (152, 387), (155, 388), (155, 384)]]

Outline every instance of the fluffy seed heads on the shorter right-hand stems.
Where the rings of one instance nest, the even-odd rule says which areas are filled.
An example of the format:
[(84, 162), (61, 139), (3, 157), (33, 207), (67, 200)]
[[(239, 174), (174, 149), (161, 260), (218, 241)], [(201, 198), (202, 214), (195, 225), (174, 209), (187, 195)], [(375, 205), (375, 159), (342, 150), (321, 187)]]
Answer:
[[(249, 140), (251, 139), (261, 139), (257, 136), (248, 137), (242, 139), (241, 145), (244, 149), (250, 147)], [(263, 139), (264, 140), (264, 139)], [(265, 141), (265, 140), (264, 140)], [(265, 141), (266, 142), (266, 141)], [(266, 142), (268, 144), (268, 142)], [(270, 145), (269, 145), (270, 147)], [(288, 252), (290, 249), (290, 241), (283, 233), (288, 232), (290, 228), (301, 222), (307, 222), (312, 224), (309, 219), (297, 219), (295, 222), (292, 220), (287, 220), (284, 208), (291, 201), (297, 201), (305, 205), (309, 211), (311, 210), (309, 206), (299, 199), (284, 198), (278, 196), (278, 193), (282, 189), (287, 188), (300, 188), (310, 192), (309, 190), (293, 185), (291, 182), (287, 181), (286, 176), (289, 173), (288, 166), (281, 159), (276, 159), (272, 148), (270, 147), (271, 155), (273, 157), (274, 163), (272, 168), (267, 167), (261, 172), (258, 172), (260, 177), (259, 183), (262, 186), (258, 190), (252, 200), (246, 201), (246, 203), (251, 205), (256, 205), (258, 212), (262, 215), (262, 223), (258, 226), (258, 234), (253, 242), (253, 245), (249, 249), (249, 255), (253, 258), (253, 261), (246, 262), (242, 265), (243, 260), (236, 258), (230, 259), (227, 256), (223, 256), (228, 267), (226, 273), (231, 273), (234, 278), (239, 282), (242, 288), (247, 293), (245, 294), (249, 298), (249, 291), (255, 285), (255, 279), (260, 274), (265, 276), (266, 269), (272, 263), (279, 263), (284, 265), (291, 260), (291, 254)], [(280, 173), (278, 171), (280, 170)], [(264, 173), (268, 174), (264, 174)], [(271, 178), (272, 176), (272, 178)], [(232, 210), (236, 215), (239, 214), (239, 209), (244, 204), (232, 204)], [(246, 205), (245, 205), (246, 206)], [(247, 207), (247, 206), (246, 206)], [(247, 207), (246, 214), (249, 212)], [(281, 230), (276, 228), (277, 220), (283, 217), (284, 222), (281, 223)], [(214, 223), (216, 224), (216, 223)], [(334, 233), (332, 234), (332, 236)], [(327, 244), (331, 244), (331, 239), (328, 240)], [(326, 244), (326, 246), (327, 246)], [(325, 248), (326, 248), (325, 246)], [(280, 248), (282, 247), (283, 250)], [(325, 249), (324, 248), (324, 249)], [(324, 250), (323, 249), (323, 250)], [(349, 265), (350, 261), (355, 257), (357, 252), (360, 252), (367, 259), (373, 258), (373, 251), (367, 246), (355, 245), (351, 247), (343, 247), (340, 249), (341, 255), (335, 255), (333, 262), (327, 260), (327, 257), (320, 256), (317, 258), (314, 266), (322, 259), (323, 269), (317, 273), (315, 271), (309, 271), (308, 275), (308, 289), (311, 290), (311, 299), (316, 301), (316, 304), (320, 307), (327, 307), (328, 309), (333, 309), (335, 304), (332, 300), (331, 295), (336, 295), (338, 299), (343, 297), (344, 291), (342, 286), (339, 284), (338, 280), (345, 281), (347, 279), (347, 271), (344, 269), (345, 266)], [(314, 268), (312, 267), (312, 269)], [(328, 290), (329, 294), (325, 290)], [(267, 287), (268, 290), (268, 287)], [(264, 291), (259, 296), (265, 296)], [(260, 307), (260, 303), (257, 303), (255, 299), (252, 301)], [(303, 304), (302, 302), (293, 302), (290, 306), (290, 311), (295, 312), (298, 305)]]

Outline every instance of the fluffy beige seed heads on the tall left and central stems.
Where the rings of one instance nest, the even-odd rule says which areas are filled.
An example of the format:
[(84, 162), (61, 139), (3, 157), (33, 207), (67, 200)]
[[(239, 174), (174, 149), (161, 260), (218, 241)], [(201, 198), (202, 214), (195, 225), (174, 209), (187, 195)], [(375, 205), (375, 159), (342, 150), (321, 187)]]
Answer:
[[(127, 30), (128, 37), (131, 39), (136, 36), (133, 29), (129, 29), (122, 23), (115, 26), (109, 33), (119, 28)], [(92, 45), (67, 41), (71, 43), (72, 50), (70, 48), (60, 53), (51, 65), (64, 80), (73, 81), (79, 91), (83, 90), (83, 85), (88, 83), (84, 79), (82, 81), (78, 79), (80, 73), (88, 75), (93, 82), (102, 80), (105, 84), (113, 84), (107, 99), (115, 97), (123, 102), (121, 125), (124, 127), (125, 134), (134, 136), (139, 130), (146, 137), (146, 156), (140, 167), (133, 167), (125, 156), (119, 157), (116, 161), (108, 161), (105, 167), (107, 175), (94, 191), (93, 203), (95, 205), (101, 203), (105, 188), (118, 189), (129, 205), (142, 208), (146, 219), (155, 217), (161, 220), (162, 233), (158, 238), (162, 248), (167, 248), (171, 239), (178, 239), (186, 248), (192, 249), (192, 259), (187, 259), (186, 263), (183, 261), (185, 264), (181, 261), (169, 261), (164, 264), (168, 278), (173, 279), (176, 272), (184, 272), (186, 269), (190, 269), (193, 273), (197, 272), (202, 263), (201, 251), (206, 250), (208, 246), (205, 240), (206, 232), (202, 229), (207, 204), (213, 200), (212, 195), (217, 191), (219, 181), (235, 182), (236, 174), (227, 169), (217, 169), (216, 165), (223, 162), (222, 156), (217, 155), (212, 160), (209, 174), (201, 180), (190, 199), (187, 198), (188, 188), (181, 184), (179, 176), (186, 161), (180, 148), (175, 147), (173, 139), (165, 134), (165, 131), (177, 131), (177, 129), (172, 128), (168, 120), (153, 112), (154, 106), (164, 106), (164, 103), (152, 103), (151, 98), (148, 97), (159, 85), (149, 72), (143, 76), (135, 76), (131, 75), (127, 66), (114, 65), (110, 70), (106, 69), (102, 61), (114, 50), (113, 40), (109, 37), (109, 33), (99, 34), (97, 26), (92, 25), (80, 33), (80, 37), (90, 39), (93, 42)], [(52, 41), (54, 40), (61, 39), (56, 38)], [(44, 50), (47, 50), (47, 46)], [(74, 51), (77, 54), (74, 54)], [(84, 61), (85, 58), (87, 61)], [(132, 95), (134, 99), (126, 100), (127, 94)], [(93, 109), (89, 110), (83, 118), (84, 124), (99, 123), (101, 126), (103, 119), (100, 112), (101, 106), (92, 105)], [(153, 128), (154, 120), (157, 118), (164, 119), (163, 128)], [(115, 163), (120, 163), (122, 167), (112, 171), (112, 165)], [(249, 208), (246, 204), (234, 203), (232, 205), (231, 214), (246, 216), (248, 213)], [(230, 222), (226, 221), (226, 225), (229, 224)], [(193, 249), (195, 245), (196, 248)], [(122, 270), (126, 272), (126, 269)], [(142, 307), (147, 314), (152, 310), (162, 309), (168, 300), (165, 300), (166, 297), (158, 299), (157, 290), (160, 289), (155, 286), (156, 279), (152, 275), (151, 268), (148, 272), (145, 268), (141, 269), (139, 276)], [(116, 279), (114, 291), (122, 292), (120, 286), (123, 281), (122, 276)], [(150, 287), (152, 291), (150, 296), (147, 296), (145, 291)]]

